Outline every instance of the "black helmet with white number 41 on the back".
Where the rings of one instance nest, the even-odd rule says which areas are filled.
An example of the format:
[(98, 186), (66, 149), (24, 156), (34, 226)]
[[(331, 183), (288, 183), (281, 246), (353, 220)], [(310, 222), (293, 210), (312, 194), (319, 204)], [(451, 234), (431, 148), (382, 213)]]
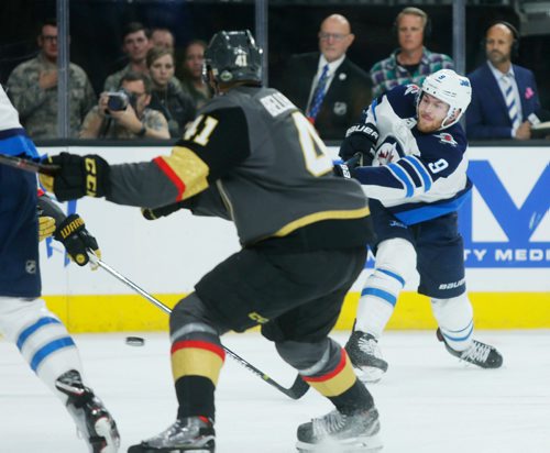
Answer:
[(249, 30), (218, 32), (205, 51), (205, 73), (217, 82), (262, 81), (262, 49)]

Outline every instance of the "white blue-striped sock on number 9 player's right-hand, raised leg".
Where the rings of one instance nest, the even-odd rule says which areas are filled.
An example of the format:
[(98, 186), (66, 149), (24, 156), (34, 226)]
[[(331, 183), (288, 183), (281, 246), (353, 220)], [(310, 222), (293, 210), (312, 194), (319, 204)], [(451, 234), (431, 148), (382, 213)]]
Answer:
[(474, 320), (466, 294), (451, 299), (431, 299), (431, 309), (447, 344), (454, 351), (468, 350), (473, 341)]

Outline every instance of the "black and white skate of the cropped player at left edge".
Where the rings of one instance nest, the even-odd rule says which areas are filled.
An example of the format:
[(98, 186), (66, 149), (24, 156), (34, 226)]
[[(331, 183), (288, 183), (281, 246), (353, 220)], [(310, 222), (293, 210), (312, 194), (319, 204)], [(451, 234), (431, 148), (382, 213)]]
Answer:
[(78, 431), (88, 443), (90, 453), (116, 453), (120, 446), (117, 423), (94, 391), (85, 387), (80, 374), (72, 369), (55, 383), (68, 396), (67, 410)]

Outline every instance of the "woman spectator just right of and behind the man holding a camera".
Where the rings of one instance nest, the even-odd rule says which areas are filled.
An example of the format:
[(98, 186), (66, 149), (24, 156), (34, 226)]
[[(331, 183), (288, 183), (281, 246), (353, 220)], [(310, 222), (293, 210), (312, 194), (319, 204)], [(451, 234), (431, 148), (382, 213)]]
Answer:
[(148, 107), (164, 114), (172, 137), (182, 137), (185, 125), (195, 119), (196, 111), (191, 97), (174, 84), (173, 52), (153, 47), (147, 52), (147, 68), (153, 81)]

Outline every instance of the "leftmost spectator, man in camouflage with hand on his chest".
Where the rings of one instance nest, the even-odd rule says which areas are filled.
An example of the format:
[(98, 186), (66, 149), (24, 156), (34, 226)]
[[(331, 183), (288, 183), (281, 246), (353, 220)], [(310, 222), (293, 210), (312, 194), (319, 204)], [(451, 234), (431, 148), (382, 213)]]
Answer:
[[(57, 23), (44, 21), (38, 30), (38, 55), (20, 64), (8, 79), (8, 93), (32, 139), (57, 134)], [(77, 136), (86, 113), (97, 101), (84, 69), (69, 64), (69, 134)]]

